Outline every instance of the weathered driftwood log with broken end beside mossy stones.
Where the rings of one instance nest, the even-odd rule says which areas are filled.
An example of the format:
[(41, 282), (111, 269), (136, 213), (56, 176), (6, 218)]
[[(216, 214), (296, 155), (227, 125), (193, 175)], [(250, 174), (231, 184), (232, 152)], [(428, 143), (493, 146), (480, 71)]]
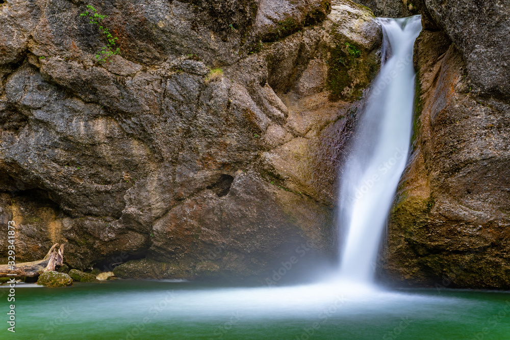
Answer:
[(42, 260), (16, 264), (13, 270), (9, 269), (10, 266), (8, 265), (0, 265), (0, 277), (35, 277), (44, 272), (55, 270), (55, 267), (62, 266), (64, 255), (64, 245), (57, 249), (58, 245), (58, 243), (55, 243)]

